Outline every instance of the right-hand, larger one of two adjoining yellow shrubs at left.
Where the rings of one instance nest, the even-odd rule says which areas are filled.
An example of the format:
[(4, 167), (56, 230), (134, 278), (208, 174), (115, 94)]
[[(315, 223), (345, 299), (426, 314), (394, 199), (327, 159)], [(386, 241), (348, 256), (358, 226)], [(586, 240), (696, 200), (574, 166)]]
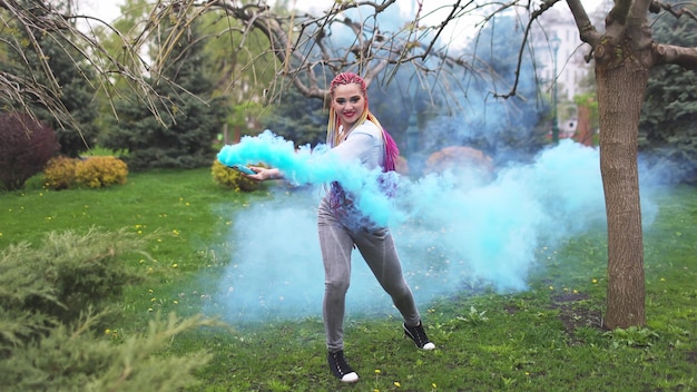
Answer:
[(76, 182), (90, 188), (126, 184), (127, 176), (128, 166), (116, 157), (90, 157), (81, 160), (75, 168)]

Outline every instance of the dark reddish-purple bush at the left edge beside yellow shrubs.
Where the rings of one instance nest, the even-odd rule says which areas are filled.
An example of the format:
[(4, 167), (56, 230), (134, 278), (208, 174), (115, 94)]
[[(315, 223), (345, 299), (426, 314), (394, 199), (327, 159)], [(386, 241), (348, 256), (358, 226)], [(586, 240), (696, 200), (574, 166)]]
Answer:
[(0, 187), (21, 189), (59, 148), (53, 130), (31, 116), (0, 115)]

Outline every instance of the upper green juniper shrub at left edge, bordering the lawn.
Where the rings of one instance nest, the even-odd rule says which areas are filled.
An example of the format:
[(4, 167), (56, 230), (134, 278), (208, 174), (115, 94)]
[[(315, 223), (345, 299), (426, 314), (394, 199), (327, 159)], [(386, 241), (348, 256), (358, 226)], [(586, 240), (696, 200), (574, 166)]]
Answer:
[[(12, 244), (0, 253), (0, 287), (4, 288), (0, 307), (18, 317), (29, 312), (52, 323), (72, 323), (84, 310), (140, 281), (119, 265), (117, 256), (141, 244), (134, 233), (95, 228), (86, 234), (49, 233), (39, 247)], [(38, 331), (45, 324), (23, 327)]]

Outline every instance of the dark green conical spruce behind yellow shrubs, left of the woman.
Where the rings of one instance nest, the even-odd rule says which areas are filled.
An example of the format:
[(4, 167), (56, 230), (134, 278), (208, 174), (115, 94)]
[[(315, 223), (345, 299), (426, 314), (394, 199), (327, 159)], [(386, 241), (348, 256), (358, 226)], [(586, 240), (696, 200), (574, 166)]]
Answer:
[(204, 71), (204, 43), (196, 26), (164, 30), (170, 35), (171, 29), (183, 28), (178, 31), (179, 45), (168, 48), (167, 67), (149, 79), (159, 97), (170, 98), (168, 106), (158, 104), (161, 106), (156, 108), (158, 112), (168, 114), (161, 118), (163, 124), (131, 95), (130, 99), (117, 104), (119, 120), (99, 138), (101, 146), (125, 150), (122, 159), (134, 170), (204, 167), (215, 157), (213, 143), (222, 131), (226, 102), (213, 97), (214, 85)]

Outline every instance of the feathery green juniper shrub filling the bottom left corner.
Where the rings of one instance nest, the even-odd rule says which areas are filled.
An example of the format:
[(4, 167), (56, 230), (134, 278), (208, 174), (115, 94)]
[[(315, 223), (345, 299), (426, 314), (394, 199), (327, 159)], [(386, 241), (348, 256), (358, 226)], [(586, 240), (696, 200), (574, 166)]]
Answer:
[(0, 357), (4, 391), (184, 391), (200, 383), (194, 372), (212, 359), (205, 351), (167, 353), (171, 342), (197, 327), (215, 326), (202, 316), (155, 317), (147, 332), (117, 342), (92, 332), (95, 317), (76, 326), (59, 325)]

